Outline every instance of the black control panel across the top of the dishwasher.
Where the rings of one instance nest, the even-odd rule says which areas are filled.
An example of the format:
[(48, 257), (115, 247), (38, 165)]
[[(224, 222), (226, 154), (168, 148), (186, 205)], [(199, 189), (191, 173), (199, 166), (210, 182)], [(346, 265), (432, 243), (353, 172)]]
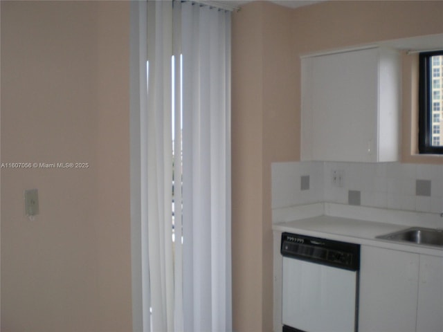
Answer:
[(360, 269), (360, 245), (284, 232), (280, 252), (285, 257), (312, 261), (316, 264)]

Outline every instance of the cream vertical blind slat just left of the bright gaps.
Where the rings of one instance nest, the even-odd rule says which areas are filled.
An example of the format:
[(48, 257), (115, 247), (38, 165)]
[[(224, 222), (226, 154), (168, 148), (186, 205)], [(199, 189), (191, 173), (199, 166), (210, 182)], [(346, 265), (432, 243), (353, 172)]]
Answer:
[(174, 329), (172, 267), (172, 6), (147, 1), (147, 206), (152, 331)]

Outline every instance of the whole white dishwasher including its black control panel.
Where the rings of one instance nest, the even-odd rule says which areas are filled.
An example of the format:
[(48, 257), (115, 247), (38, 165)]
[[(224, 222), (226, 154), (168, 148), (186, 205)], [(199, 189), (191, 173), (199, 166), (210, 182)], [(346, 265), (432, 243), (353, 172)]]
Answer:
[(360, 245), (283, 233), (282, 332), (358, 331)]

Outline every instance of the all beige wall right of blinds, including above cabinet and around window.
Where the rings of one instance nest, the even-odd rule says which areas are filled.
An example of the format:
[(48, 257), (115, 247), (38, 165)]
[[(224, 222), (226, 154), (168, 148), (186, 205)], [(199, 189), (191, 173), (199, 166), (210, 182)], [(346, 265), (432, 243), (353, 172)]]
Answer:
[[(443, 1), (327, 1), (290, 10), (250, 3), (233, 14), (233, 322), (271, 331), (271, 163), (300, 159), (302, 54), (443, 33)], [(405, 162), (415, 62), (404, 61)]]

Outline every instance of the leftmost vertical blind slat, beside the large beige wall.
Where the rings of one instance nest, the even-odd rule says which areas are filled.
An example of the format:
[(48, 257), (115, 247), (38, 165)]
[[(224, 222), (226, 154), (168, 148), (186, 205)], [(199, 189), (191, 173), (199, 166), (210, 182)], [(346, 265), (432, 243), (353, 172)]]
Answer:
[(147, 3), (131, 2), (130, 153), (132, 329), (150, 331), (150, 282), (147, 237)]

